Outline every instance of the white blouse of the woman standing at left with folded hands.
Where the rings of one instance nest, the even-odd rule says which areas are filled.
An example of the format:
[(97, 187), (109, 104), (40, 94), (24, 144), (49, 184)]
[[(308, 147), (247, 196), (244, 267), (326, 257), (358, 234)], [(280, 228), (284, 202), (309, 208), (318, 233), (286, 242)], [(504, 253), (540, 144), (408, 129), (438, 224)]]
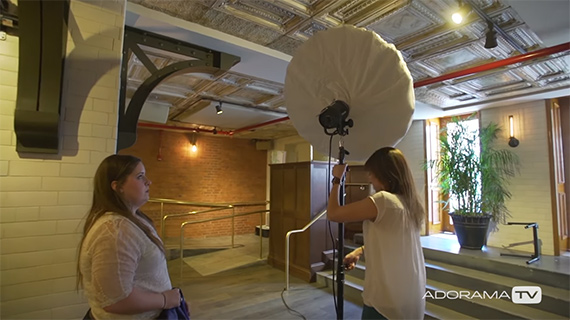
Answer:
[[(157, 236), (150, 223), (139, 219)], [(79, 268), (95, 319), (154, 319), (162, 310), (121, 315), (103, 308), (126, 298), (134, 287), (153, 292), (172, 289), (164, 254), (133, 222), (111, 212), (89, 230)]]

